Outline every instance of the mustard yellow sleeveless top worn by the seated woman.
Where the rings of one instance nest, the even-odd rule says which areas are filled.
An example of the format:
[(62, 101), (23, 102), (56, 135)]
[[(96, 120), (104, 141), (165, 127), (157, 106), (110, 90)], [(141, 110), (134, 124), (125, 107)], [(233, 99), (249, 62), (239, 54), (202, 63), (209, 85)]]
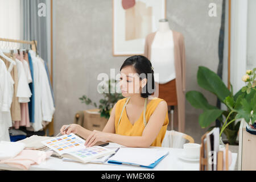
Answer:
[[(121, 115), (123, 105), (125, 105), (126, 98), (123, 98), (117, 101), (115, 106), (115, 133), (119, 135), (126, 136), (142, 136), (143, 130), (145, 128), (143, 123), (143, 111), (141, 113), (141, 117), (135, 121), (134, 125), (129, 121), (126, 109), (123, 110), (123, 114), (121, 117), (121, 121), (118, 125), (119, 117)], [(150, 119), (150, 116), (154, 113), (156, 106), (158, 106), (159, 102), (163, 101), (161, 98), (153, 98), (152, 100), (148, 100), (147, 109), (146, 109), (146, 122)], [(151, 146), (160, 147), (162, 146), (164, 135), (166, 134), (167, 125), (169, 123), (168, 112), (166, 112), (166, 118), (164, 119), (164, 123), (162, 129), (160, 130), (158, 136), (151, 144)]]

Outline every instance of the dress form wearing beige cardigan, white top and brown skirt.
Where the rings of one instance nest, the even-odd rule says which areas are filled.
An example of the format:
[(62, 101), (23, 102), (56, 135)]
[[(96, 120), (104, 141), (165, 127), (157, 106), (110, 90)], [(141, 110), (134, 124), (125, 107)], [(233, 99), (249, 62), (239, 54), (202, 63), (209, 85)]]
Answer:
[[(158, 42), (157, 40), (160, 40), (159, 37), (161, 37), (160, 33), (162, 32), (167, 33), (167, 29), (170, 30), (170, 28), (168, 28), (168, 20), (167, 19), (159, 20), (159, 30), (156, 32), (152, 32), (151, 34), (148, 34), (146, 36), (145, 46), (144, 46), (144, 56), (151, 61), (152, 67), (154, 68), (154, 72), (159, 73), (159, 75), (155, 75), (155, 78), (156, 78), (155, 81), (158, 81), (158, 82), (155, 82), (156, 92), (154, 93), (153, 97), (163, 98), (167, 102), (168, 106), (175, 106), (174, 119), (171, 119), (174, 122), (171, 122), (171, 123), (174, 123), (178, 127), (179, 132), (184, 133), (185, 132), (185, 85), (186, 85), (186, 81), (185, 81), (186, 57), (185, 57), (184, 36), (180, 32), (177, 32), (175, 30), (170, 30), (170, 34), (172, 32), (172, 36), (166, 36), (166, 39), (169, 39), (170, 41), (167, 42), (163, 40), (162, 42), (163, 44), (169, 43), (168, 44), (169, 46), (171, 44), (174, 44), (174, 47), (170, 46), (170, 49), (166, 49), (166, 51), (164, 51), (165, 53), (164, 53), (163, 59), (166, 59), (166, 57), (168, 56), (168, 53), (172, 53), (172, 52), (174, 52), (174, 59), (172, 59), (171, 54), (169, 54), (169, 59), (168, 59), (169, 61), (164, 62), (162, 59), (162, 54), (158, 53), (158, 56), (154, 56), (154, 53), (156, 53), (157, 51), (155, 52), (156, 49), (154, 48), (152, 49), (152, 46), (154, 47), (153, 45), (154, 41), (157, 43)], [(170, 35), (170, 34), (167, 34), (167, 35)], [(162, 50), (163, 49), (164, 47), (162, 47)], [(152, 53), (153, 51), (154, 53)], [(151, 56), (155, 58), (152, 59)], [(172, 60), (174, 60), (174, 64), (171, 63)], [(164, 64), (171, 65), (167, 69), (168, 72), (166, 72), (166, 73), (169, 73), (170, 75), (163, 74), (164, 68), (162, 65)], [(160, 68), (160, 71), (157, 71), (158, 67), (162, 67)], [(174, 75), (173, 74), (174, 72), (171, 71), (172, 67), (175, 68), (174, 69), (175, 77), (171, 77), (171, 75)], [(158, 76), (160, 77), (159, 79), (158, 79)]]

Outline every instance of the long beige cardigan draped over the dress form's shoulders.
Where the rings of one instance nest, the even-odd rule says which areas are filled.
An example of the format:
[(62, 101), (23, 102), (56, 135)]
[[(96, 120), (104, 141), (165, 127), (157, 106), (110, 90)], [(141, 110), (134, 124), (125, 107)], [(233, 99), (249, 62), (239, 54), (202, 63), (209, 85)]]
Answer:
[[(155, 38), (156, 32), (146, 37), (144, 56), (151, 59), (151, 45)], [(180, 32), (172, 31), (174, 36), (174, 63), (176, 73), (176, 93), (177, 93), (177, 116), (178, 130), (182, 133), (185, 131), (185, 45), (184, 37)], [(176, 112), (175, 112), (176, 113)]]

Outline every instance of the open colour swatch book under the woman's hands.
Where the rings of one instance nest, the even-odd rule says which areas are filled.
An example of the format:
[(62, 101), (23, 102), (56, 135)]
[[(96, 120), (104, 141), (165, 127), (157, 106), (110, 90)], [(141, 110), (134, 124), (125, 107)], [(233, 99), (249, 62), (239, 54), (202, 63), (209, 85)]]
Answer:
[(61, 157), (82, 163), (88, 163), (91, 160), (115, 153), (114, 150), (100, 146), (86, 148), (84, 146), (85, 140), (73, 133), (45, 140), (42, 143), (57, 152)]

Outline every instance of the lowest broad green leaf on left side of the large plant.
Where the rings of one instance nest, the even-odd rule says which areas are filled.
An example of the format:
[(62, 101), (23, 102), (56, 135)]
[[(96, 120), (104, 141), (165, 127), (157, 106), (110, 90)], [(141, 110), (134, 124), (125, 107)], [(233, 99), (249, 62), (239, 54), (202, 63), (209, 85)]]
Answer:
[(205, 110), (204, 113), (199, 116), (199, 124), (202, 128), (208, 127), (212, 122), (216, 121), (224, 110), (220, 109), (209, 109)]

